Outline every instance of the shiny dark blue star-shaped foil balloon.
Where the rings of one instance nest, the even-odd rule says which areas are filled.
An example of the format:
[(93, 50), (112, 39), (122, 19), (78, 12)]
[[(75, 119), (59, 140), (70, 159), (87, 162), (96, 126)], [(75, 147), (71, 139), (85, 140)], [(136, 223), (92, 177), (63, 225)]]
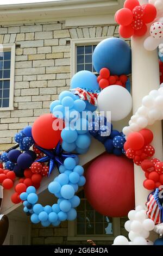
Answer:
[(41, 148), (38, 145), (35, 145), (36, 148), (40, 149), (46, 156), (42, 157), (39, 160), (36, 160), (35, 162), (49, 162), (49, 175), (51, 175), (52, 170), (55, 166), (57, 166), (59, 170), (59, 166), (64, 164), (64, 160), (67, 157), (77, 157), (77, 154), (71, 154), (71, 153), (65, 153), (62, 150), (60, 141), (58, 142), (55, 149), (44, 149)]

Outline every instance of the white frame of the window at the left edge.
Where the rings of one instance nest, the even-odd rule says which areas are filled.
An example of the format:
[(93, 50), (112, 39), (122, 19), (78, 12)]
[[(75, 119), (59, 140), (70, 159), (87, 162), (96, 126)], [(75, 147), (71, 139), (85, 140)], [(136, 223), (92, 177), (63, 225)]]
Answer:
[(0, 51), (11, 51), (11, 66), (10, 66), (10, 97), (9, 107), (0, 107), (0, 111), (9, 111), (14, 109), (14, 75), (15, 75), (15, 44), (0, 45)]

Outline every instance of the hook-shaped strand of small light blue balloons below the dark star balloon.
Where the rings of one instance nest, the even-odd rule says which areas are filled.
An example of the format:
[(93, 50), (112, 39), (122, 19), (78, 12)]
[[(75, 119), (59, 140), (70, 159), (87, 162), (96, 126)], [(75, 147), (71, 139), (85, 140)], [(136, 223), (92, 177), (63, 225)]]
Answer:
[(31, 215), (32, 223), (41, 222), (43, 227), (48, 227), (50, 224), (57, 226), (61, 221), (72, 221), (76, 218), (77, 211), (74, 208), (80, 204), (80, 199), (74, 194), (78, 186), (85, 184), (84, 169), (78, 165), (78, 157), (76, 159), (67, 157), (64, 165), (59, 167), (59, 171), (61, 174), (48, 185), (48, 191), (58, 198), (57, 204), (45, 207), (36, 204), (38, 197), (33, 186), (20, 194), (20, 199), (24, 201), (24, 211)]

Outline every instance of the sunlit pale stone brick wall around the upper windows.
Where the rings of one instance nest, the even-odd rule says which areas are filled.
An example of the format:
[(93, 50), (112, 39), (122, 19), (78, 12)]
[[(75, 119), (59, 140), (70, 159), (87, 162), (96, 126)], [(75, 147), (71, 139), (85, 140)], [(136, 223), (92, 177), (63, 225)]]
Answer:
[(118, 27), (65, 28), (64, 21), (0, 27), (0, 44), (16, 43), (14, 111), (0, 111), (0, 151), (69, 89), (70, 40), (100, 36), (118, 36)]

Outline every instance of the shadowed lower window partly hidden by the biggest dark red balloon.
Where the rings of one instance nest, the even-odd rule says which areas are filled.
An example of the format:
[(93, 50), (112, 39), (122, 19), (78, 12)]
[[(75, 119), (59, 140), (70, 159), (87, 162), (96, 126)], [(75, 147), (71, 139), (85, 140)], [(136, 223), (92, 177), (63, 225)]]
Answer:
[(120, 219), (103, 216), (87, 202), (84, 191), (78, 193), (77, 219), (68, 223), (68, 240), (114, 240), (120, 233)]

